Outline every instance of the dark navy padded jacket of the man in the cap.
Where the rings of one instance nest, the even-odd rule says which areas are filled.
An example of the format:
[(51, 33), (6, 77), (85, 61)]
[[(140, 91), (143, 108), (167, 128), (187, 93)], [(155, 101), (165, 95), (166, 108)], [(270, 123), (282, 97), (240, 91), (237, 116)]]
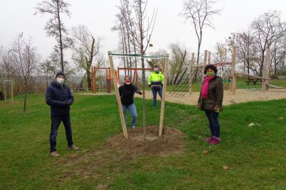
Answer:
[(73, 94), (68, 86), (54, 81), (46, 89), (46, 103), (51, 106), (51, 116), (65, 116), (70, 113)]

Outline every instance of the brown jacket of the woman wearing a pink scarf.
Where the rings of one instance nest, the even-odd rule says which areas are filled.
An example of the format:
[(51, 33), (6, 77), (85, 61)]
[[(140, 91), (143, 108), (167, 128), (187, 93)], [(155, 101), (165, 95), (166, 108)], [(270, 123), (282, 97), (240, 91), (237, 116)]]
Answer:
[[(203, 84), (201, 86), (203, 86)], [(213, 77), (208, 84), (207, 99), (202, 99), (200, 93), (198, 97), (198, 108), (206, 111), (213, 111), (215, 108), (219, 108), (219, 111), (223, 110), (223, 81), (220, 77)]]

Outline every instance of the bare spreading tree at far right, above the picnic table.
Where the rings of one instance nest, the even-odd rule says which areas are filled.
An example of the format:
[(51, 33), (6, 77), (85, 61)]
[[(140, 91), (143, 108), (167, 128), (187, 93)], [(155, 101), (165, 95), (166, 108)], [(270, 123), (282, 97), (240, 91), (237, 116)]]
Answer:
[(259, 75), (262, 76), (265, 52), (272, 43), (286, 35), (286, 23), (281, 21), (279, 12), (270, 11), (255, 19), (251, 23), (251, 27), (253, 28), (255, 42), (260, 49), (260, 57), (262, 57), (259, 64)]

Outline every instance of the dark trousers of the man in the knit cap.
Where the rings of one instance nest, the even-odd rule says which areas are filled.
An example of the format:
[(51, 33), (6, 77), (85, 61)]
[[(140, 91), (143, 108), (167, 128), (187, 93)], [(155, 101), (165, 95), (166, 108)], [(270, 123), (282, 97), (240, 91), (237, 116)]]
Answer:
[(50, 135), (50, 145), (51, 152), (55, 151), (55, 145), (57, 145), (56, 138), (58, 134), (58, 127), (60, 126), (60, 122), (63, 121), (63, 125), (65, 126), (65, 136), (68, 140), (68, 146), (73, 145), (73, 137), (72, 130), (70, 125), (70, 115), (66, 116), (51, 116), (52, 124), (51, 124), (51, 135)]

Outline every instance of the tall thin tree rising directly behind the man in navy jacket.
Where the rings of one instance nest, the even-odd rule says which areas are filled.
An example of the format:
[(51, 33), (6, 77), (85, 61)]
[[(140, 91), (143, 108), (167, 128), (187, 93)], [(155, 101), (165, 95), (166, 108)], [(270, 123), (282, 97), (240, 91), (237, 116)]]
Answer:
[(36, 13), (39, 14), (51, 14), (51, 18), (48, 20), (45, 26), (45, 30), (48, 36), (52, 36), (57, 41), (58, 45), (55, 46), (55, 52), (60, 52), (60, 66), (62, 72), (64, 72), (63, 61), (63, 49), (72, 44), (72, 40), (68, 38), (68, 30), (63, 26), (62, 15), (70, 16), (68, 11), (70, 4), (63, 0), (46, 0), (41, 1), (35, 8)]

